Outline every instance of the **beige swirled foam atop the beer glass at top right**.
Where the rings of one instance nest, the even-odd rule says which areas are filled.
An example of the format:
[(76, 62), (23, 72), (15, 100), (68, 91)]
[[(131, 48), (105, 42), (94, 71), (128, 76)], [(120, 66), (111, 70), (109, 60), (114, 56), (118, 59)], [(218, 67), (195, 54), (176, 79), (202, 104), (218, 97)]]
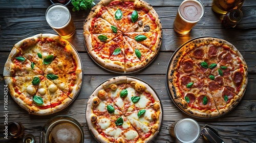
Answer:
[(198, 21), (204, 14), (203, 6), (198, 1), (188, 0), (181, 3), (180, 16), (188, 21)]

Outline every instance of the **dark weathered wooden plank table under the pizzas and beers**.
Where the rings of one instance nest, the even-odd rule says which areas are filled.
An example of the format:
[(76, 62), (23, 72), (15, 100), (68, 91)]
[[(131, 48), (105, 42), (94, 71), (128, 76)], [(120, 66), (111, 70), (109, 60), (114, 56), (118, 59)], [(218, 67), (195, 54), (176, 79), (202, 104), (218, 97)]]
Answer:
[[(153, 142), (178, 142), (169, 135), (170, 124), (182, 118), (194, 118), (178, 109), (170, 99), (166, 89), (166, 68), (174, 51), (184, 42), (199, 36), (215, 36), (232, 43), (243, 55), (249, 70), (249, 81), (245, 96), (231, 112), (213, 119), (194, 118), (200, 126), (210, 125), (218, 130), (225, 142), (256, 142), (256, 1), (246, 0), (243, 7), (242, 21), (234, 29), (225, 29), (218, 14), (211, 10), (211, 1), (203, 0), (205, 15), (187, 35), (177, 34), (173, 30), (173, 22), (181, 4), (179, 0), (145, 0), (152, 4), (160, 16), (163, 26), (163, 42), (157, 58), (145, 69), (129, 76), (138, 77), (152, 85), (158, 93), (164, 110), (163, 125)], [(98, 3), (98, 0), (95, 0)], [(56, 34), (45, 20), (46, 9), (51, 5), (49, 0), (40, 1), (0, 1), (0, 124), (3, 128), (6, 120), (4, 114), (3, 69), (13, 45), (26, 37), (39, 33)], [(85, 108), (91, 92), (104, 80), (120, 76), (99, 67), (88, 55), (83, 42), (83, 21), (89, 11), (72, 12), (72, 4), (68, 6), (76, 26), (76, 34), (68, 39), (82, 59), (84, 79), (81, 92), (76, 100), (58, 113), (47, 116), (28, 114), (19, 107), (11, 96), (8, 96), (8, 122), (21, 122), (25, 134), (31, 133), (39, 142), (42, 126), (53, 116), (70, 115), (82, 126), (84, 142), (96, 142), (86, 125)], [(0, 130), (0, 142), (20, 142), (20, 139), (5, 139)], [(197, 142), (205, 142), (200, 136)]]

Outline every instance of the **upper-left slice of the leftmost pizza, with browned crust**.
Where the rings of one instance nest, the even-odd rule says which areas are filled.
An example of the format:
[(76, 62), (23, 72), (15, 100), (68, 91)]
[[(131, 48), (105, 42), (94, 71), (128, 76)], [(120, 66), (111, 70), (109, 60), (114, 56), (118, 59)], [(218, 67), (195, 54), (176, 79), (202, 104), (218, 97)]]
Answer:
[(33, 62), (38, 68), (42, 70), (42, 59), (41, 55), (41, 44), (42, 38), (41, 34), (37, 34), (33, 37), (28, 37), (17, 42), (14, 47), (16, 47), (23, 55)]

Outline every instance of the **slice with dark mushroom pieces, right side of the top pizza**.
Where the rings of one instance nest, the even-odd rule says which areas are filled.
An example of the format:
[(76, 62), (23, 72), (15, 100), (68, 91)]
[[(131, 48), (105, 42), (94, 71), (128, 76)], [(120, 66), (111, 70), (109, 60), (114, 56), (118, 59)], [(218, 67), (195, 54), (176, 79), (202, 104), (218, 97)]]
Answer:
[(136, 21), (125, 33), (131, 32), (155, 32), (162, 31), (162, 25), (157, 12), (151, 8), (150, 11), (142, 16), (142, 19)]

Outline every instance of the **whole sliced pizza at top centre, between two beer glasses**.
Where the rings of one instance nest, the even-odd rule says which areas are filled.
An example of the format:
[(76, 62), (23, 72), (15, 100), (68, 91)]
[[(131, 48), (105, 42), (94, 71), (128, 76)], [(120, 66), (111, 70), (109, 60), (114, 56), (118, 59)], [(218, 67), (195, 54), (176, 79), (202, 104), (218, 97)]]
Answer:
[(83, 26), (90, 56), (121, 73), (138, 71), (158, 54), (162, 26), (156, 11), (141, 0), (102, 0)]

